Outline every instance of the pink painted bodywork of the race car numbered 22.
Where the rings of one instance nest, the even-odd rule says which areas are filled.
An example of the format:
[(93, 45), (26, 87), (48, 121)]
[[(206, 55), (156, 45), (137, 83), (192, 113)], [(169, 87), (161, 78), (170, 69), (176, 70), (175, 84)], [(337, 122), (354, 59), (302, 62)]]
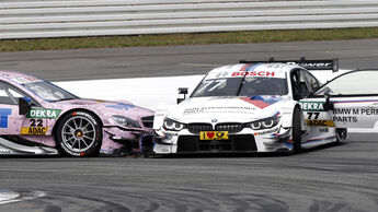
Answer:
[[(18, 73), (18, 72), (10, 72), (10, 71), (0, 71), (0, 79), (5, 81), (30, 96), (33, 97), (35, 102), (41, 104), (41, 107), (33, 107), (32, 109), (55, 109), (59, 114), (57, 117), (54, 118), (42, 118), (42, 121), (37, 122), (43, 125), (43, 127), (47, 128), (47, 131), (43, 136), (25, 136), (22, 134), (23, 139), (42, 143), (47, 146), (56, 146), (55, 136), (53, 134), (54, 127), (57, 125), (57, 120), (60, 117), (65, 116), (66, 113), (70, 113), (73, 110), (88, 110), (95, 114), (103, 125), (103, 140), (102, 140), (102, 152), (111, 153), (116, 149), (119, 149), (122, 144), (114, 142), (110, 139), (111, 132), (116, 137), (122, 137), (130, 140), (138, 139), (142, 134), (151, 134), (152, 129), (144, 127), (141, 122), (141, 117), (146, 116), (153, 116), (153, 113), (149, 109), (141, 108), (138, 106), (133, 105), (128, 102), (106, 102), (106, 101), (96, 101), (96, 99), (72, 99), (72, 101), (61, 101), (61, 102), (46, 102), (38, 97), (36, 94), (32, 93), (31, 91), (26, 90), (21, 84), (18, 84), (12, 79), (14, 78), (31, 78), (30, 75)], [(11, 108), (12, 115), (9, 116), (9, 126), (8, 128), (0, 128), (0, 134), (21, 134), (21, 128), (28, 128), (31, 125), (37, 125), (36, 120), (31, 120), (34, 118), (26, 118), (25, 116), (19, 115), (19, 106), (18, 105), (4, 105), (0, 104), (1, 108)], [(58, 110), (57, 110), (58, 109)], [(115, 121), (112, 120), (112, 116), (125, 116), (133, 120), (136, 120), (141, 126), (140, 129), (125, 129)], [(41, 118), (39, 118), (41, 119)], [(123, 130), (124, 129), (124, 130)], [(107, 131), (107, 132), (105, 132)]]

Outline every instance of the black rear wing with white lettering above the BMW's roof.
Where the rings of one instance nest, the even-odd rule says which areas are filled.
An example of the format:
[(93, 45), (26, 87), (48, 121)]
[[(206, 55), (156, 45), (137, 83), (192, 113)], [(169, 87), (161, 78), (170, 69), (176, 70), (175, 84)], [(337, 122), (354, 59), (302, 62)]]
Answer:
[(339, 59), (331, 59), (331, 60), (307, 60), (305, 57), (300, 58), (299, 60), (275, 60), (274, 58), (270, 58), (267, 61), (249, 61), (249, 60), (240, 60), (239, 63), (271, 63), (271, 62), (280, 62), (287, 64), (296, 64), (303, 67), (307, 70), (332, 70), (332, 72), (339, 71)]

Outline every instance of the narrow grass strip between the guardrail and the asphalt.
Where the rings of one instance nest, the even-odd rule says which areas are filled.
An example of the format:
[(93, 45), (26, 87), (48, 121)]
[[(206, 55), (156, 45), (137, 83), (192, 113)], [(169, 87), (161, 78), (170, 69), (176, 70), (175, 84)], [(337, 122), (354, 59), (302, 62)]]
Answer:
[(0, 51), (378, 38), (378, 27), (0, 40)]

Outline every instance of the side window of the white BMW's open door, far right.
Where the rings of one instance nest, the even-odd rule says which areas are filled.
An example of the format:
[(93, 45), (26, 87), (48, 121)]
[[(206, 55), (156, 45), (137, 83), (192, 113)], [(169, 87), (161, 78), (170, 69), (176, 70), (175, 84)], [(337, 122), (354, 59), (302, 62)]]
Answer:
[(324, 84), (313, 96), (331, 95), (371, 95), (378, 93), (378, 71), (353, 71)]

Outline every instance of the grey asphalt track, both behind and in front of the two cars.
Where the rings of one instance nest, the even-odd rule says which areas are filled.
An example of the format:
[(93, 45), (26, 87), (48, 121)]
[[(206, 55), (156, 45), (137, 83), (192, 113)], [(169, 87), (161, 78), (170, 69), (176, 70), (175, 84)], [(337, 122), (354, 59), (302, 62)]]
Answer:
[[(259, 44), (249, 48), (215, 45), (7, 52), (0, 54), (0, 66), (21, 71), (30, 67), (32, 73), (55, 81), (73, 80), (73, 73), (81, 80), (156, 75), (157, 70), (164, 70), (161, 75), (186, 74), (188, 70), (191, 74), (205, 73), (213, 63), (233, 62), (241, 56), (264, 59), (272, 52), (283, 59), (307, 54), (309, 58), (311, 54), (311, 58), (339, 57), (342, 68), (367, 68), (378, 67), (377, 44), (377, 39), (368, 39), (265, 44), (265, 48)], [(218, 52), (221, 49), (225, 54)], [(307, 54), (303, 49), (308, 49)], [(107, 70), (102, 61), (106, 52), (104, 60), (115, 68), (96, 76), (101, 70)], [(117, 54), (127, 56), (126, 52), (139, 57), (112, 59)], [(147, 60), (148, 55), (153, 59)], [(81, 62), (76, 64), (78, 60)], [(121, 61), (119, 67), (127, 61), (140, 66), (130, 64), (124, 69), (129, 72), (122, 72), (115, 60)], [(64, 64), (57, 66), (60, 62)], [(90, 67), (96, 64), (99, 68), (92, 72)], [(48, 66), (55, 71), (47, 71)], [(81, 71), (76, 72), (75, 66), (81, 67)], [(133, 72), (133, 67), (140, 69)], [(0, 211), (378, 211), (377, 162), (378, 139), (374, 134), (353, 134), (341, 145), (325, 145), (297, 155), (1, 157), (0, 190), (19, 192), (19, 199), (24, 201), (0, 204)], [(33, 199), (37, 192), (46, 196)]]

